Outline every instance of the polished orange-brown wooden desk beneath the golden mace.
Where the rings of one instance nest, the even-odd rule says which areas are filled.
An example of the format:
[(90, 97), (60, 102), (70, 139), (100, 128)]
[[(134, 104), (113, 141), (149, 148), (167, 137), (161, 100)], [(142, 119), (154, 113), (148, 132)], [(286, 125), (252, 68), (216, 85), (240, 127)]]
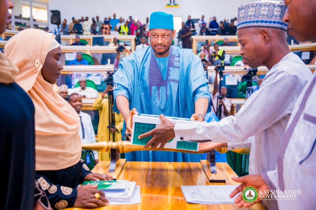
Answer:
[[(227, 184), (235, 183), (231, 177), (235, 172), (227, 163), (216, 163), (217, 172), (223, 172), (227, 177)], [(100, 161), (92, 170), (104, 173), (106, 161)], [(235, 204), (200, 205), (190, 204), (185, 201), (181, 185), (208, 185), (200, 163), (182, 162), (126, 162), (118, 179), (136, 181), (140, 185), (141, 203), (134, 205), (109, 205), (97, 208), (107, 209), (239, 209)], [(68, 208), (68, 210), (80, 208)], [(256, 204), (247, 209), (265, 209), (261, 204)]]

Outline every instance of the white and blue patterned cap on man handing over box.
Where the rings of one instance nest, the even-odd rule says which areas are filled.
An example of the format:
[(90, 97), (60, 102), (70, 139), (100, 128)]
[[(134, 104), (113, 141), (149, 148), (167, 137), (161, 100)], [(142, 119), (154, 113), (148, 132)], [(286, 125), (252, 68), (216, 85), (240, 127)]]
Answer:
[(237, 30), (247, 27), (268, 27), (288, 30), (283, 21), (286, 5), (283, 2), (263, 0), (243, 4), (238, 8)]

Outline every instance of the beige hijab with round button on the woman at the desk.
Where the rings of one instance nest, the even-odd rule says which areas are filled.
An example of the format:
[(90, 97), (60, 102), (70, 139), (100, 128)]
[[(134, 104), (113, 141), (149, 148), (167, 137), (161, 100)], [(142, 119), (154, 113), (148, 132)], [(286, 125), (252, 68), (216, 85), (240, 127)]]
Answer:
[(23, 30), (9, 39), (4, 54), (19, 68), (16, 83), (35, 107), (36, 170), (59, 170), (81, 156), (79, 116), (41, 75), (54, 36), (39, 29)]

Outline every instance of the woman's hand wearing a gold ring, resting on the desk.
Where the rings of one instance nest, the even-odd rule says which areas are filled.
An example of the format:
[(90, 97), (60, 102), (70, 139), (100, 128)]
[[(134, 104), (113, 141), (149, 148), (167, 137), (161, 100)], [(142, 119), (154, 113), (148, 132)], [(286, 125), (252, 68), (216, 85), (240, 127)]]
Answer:
[[(77, 188), (77, 198), (73, 207), (79, 208), (97, 208), (107, 206), (109, 201), (105, 198), (102, 190), (97, 190), (97, 185), (82, 185)], [(95, 198), (95, 193), (100, 194), (100, 198)]]

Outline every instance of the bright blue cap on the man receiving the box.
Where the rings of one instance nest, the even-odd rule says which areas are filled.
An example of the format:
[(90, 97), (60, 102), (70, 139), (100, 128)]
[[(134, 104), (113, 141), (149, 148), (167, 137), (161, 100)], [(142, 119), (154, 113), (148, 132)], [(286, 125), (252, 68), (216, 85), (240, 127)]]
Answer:
[(155, 28), (173, 30), (173, 15), (164, 12), (151, 13), (149, 30)]

